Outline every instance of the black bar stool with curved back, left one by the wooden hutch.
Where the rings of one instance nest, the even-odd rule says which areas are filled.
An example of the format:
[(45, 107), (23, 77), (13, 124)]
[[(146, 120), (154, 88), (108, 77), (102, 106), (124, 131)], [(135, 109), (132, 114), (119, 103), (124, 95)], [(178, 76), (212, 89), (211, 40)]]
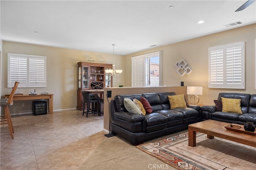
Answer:
[[(91, 112), (92, 114), (100, 112), (100, 99), (95, 97), (90, 97), (90, 94), (87, 91), (82, 91), (83, 99), (84, 99), (84, 108), (85, 103), (87, 103), (87, 111), (86, 117), (88, 117), (88, 113)], [(98, 111), (95, 109), (95, 103), (98, 103)], [(92, 105), (92, 109), (90, 109), (90, 105)], [(90, 111), (91, 110), (91, 111)], [(84, 116), (84, 109), (83, 109), (83, 116)]]

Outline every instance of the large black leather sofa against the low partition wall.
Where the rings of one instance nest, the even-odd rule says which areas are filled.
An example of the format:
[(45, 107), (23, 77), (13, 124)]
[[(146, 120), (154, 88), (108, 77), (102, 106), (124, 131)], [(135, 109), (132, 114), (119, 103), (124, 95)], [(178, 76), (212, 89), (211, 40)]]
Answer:
[[(170, 109), (168, 95), (174, 92), (116, 95), (110, 102), (111, 132), (133, 145), (172, 134), (201, 121), (200, 107)], [(124, 98), (131, 100), (144, 97), (150, 103), (153, 113), (138, 115), (129, 113), (124, 107)]]

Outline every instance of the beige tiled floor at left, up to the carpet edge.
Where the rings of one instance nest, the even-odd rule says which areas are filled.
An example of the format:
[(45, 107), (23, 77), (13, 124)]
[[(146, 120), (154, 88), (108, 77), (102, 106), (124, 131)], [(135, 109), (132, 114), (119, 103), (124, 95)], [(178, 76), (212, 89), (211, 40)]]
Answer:
[(101, 143), (103, 116), (82, 111), (12, 116), (14, 139), (1, 125), (1, 170), (77, 169)]

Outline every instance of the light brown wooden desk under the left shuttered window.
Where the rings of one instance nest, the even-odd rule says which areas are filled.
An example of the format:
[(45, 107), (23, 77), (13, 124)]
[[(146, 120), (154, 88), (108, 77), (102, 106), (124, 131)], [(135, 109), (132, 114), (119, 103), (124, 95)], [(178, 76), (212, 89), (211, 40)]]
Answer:
[[(9, 95), (5, 95), (4, 98), (8, 99)], [(47, 95), (14, 95), (13, 101), (22, 101), (22, 100), (38, 100), (38, 99), (48, 99), (48, 110), (50, 114), (53, 114), (53, 94), (48, 93)]]

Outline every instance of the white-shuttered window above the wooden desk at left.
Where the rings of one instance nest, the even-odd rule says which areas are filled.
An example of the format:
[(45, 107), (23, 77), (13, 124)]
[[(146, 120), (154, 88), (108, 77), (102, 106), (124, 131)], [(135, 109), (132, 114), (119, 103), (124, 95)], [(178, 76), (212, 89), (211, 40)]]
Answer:
[(8, 53), (8, 87), (46, 87), (46, 57)]

